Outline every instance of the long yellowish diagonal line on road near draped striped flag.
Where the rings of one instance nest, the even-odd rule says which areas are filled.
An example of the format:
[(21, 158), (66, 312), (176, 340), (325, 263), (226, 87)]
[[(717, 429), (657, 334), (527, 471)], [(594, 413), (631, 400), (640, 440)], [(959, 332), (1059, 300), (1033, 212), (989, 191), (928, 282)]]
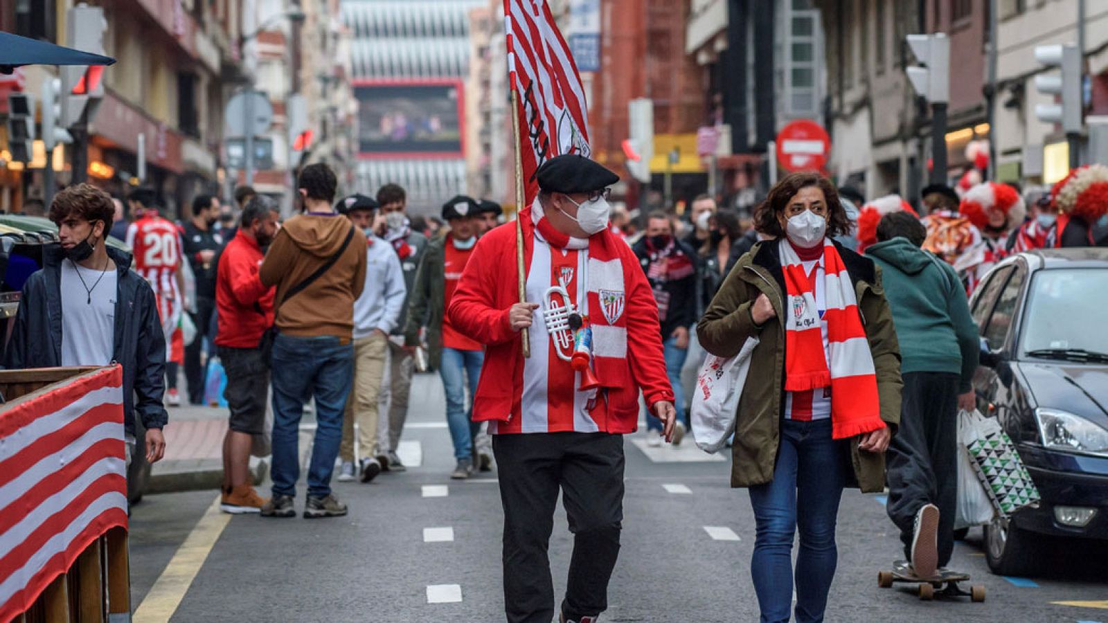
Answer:
[(168, 623), (229, 521), (230, 515), (219, 511), (219, 497), (216, 496), (135, 610), (135, 621)]

